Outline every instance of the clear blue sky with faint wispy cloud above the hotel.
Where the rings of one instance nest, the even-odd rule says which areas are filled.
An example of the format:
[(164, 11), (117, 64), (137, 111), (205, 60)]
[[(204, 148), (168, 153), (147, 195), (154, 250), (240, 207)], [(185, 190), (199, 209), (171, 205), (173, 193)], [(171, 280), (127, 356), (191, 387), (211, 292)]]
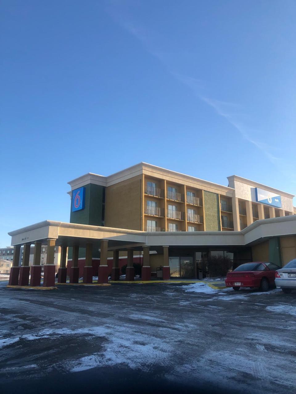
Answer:
[[(296, 2), (2, 0), (0, 245), (144, 161), (296, 194)], [(296, 202), (294, 203), (296, 204)]]

